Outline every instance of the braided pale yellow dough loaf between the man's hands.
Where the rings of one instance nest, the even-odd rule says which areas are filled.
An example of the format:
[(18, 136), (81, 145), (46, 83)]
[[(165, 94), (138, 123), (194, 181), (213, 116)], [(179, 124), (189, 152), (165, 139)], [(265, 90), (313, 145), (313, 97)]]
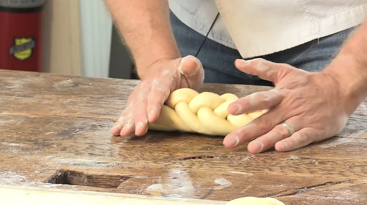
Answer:
[(227, 108), (237, 99), (231, 93), (198, 93), (190, 88), (175, 90), (163, 105), (158, 121), (149, 124), (149, 129), (225, 136), (267, 112), (230, 115)]

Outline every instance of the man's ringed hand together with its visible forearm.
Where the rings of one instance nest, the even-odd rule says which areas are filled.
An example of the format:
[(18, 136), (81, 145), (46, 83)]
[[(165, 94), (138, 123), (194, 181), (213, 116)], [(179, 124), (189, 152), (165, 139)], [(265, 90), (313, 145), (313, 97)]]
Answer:
[(234, 148), (251, 141), (248, 150), (252, 153), (272, 147), (285, 152), (336, 135), (367, 97), (366, 33), (367, 19), (320, 73), (264, 59), (237, 60), (239, 70), (272, 81), (275, 88), (229, 106), (231, 114), (261, 109), (269, 112), (228, 134), (224, 146)]

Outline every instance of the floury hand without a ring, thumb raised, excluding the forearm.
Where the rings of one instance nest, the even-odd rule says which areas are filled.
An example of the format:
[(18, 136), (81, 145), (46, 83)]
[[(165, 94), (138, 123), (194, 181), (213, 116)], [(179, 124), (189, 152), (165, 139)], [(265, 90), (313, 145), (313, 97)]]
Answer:
[(186, 56), (166, 59), (149, 66), (142, 76), (142, 82), (127, 99), (125, 110), (115, 123), (113, 135), (144, 135), (148, 122), (158, 120), (162, 105), (168, 96), (178, 88), (198, 90), (204, 81), (204, 70), (199, 59)]

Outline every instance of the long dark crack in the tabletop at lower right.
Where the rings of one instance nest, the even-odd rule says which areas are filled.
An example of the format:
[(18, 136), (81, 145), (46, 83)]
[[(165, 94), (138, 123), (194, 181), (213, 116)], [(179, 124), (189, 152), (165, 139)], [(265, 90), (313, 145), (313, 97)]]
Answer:
[(323, 186), (332, 186), (332, 185), (337, 185), (337, 184), (343, 184), (343, 183), (351, 183), (352, 180), (343, 180), (343, 181), (335, 181), (335, 182), (326, 182), (323, 184), (317, 184), (317, 185), (312, 185), (312, 186), (307, 186), (307, 187), (301, 187), (301, 188), (297, 188), (294, 190), (285, 190), (285, 191), (280, 191), (278, 193), (274, 193), (274, 194), (268, 194), (268, 195), (264, 195), (261, 197), (281, 197), (281, 196), (291, 196), (291, 195), (296, 195), (296, 194), (303, 194), (303, 193), (307, 193), (309, 191), (312, 191), (314, 189), (318, 189), (321, 188)]

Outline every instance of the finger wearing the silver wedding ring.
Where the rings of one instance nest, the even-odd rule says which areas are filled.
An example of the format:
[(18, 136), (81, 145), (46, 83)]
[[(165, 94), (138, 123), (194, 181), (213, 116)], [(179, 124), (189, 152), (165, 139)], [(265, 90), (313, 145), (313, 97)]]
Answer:
[[(294, 128), (294, 132), (297, 132), (298, 130), (303, 128), (302, 120), (298, 116), (291, 117), (285, 122)], [(278, 124), (268, 133), (251, 141), (247, 145), (247, 149), (249, 150), (249, 152), (254, 154), (261, 153), (274, 147), (277, 142), (289, 138), (290, 136), (291, 132), (284, 125)]]

